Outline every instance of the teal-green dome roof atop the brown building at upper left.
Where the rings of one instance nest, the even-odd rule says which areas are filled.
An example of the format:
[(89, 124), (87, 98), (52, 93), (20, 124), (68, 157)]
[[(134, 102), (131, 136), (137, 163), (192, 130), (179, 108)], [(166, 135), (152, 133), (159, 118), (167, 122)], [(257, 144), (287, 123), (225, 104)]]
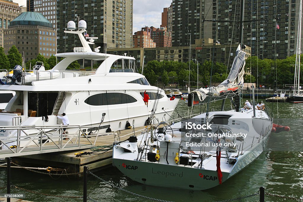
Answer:
[(52, 28), (52, 23), (50, 23), (41, 13), (37, 12), (21, 13), (10, 23), (10, 26), (15, 25), (37, 25)]

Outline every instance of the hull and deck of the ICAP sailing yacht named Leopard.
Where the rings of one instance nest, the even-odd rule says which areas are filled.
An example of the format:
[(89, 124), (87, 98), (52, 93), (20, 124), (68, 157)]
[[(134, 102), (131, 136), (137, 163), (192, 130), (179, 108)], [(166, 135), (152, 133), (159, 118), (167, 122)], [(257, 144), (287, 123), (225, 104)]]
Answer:
[[(250, 113), (247, 110), (244, 111), (244, 113)], [(244, 114), (244, 113), (233, 113), (237, 116)], [(257, 111), (257, 113), (260, 114), (260, 116), (265, 116), (266, 114), (263, 111)], [(214, 114), (220, 114), (220, 112), (214, 112)], [(228, 113), (223, 113), (228, 114)], [(205, 115), (204, 115), (205, 116)], [(210, 115), (212, 116), (212, 114)], [(199, 115), (196, 117), (196, 120), (201, 119), (200, 117), (203, 117), (203, 115)], [(244, 116), (244, 119), (248, 118), (248, 116)], [(268, 117), (267, 117), (268, 118)], [(239, 117), (239, 119), (243, 119), (243, 117)], [(231, 122), (230, 123), (243, 123), (243, 125), (240, 125), (239, 127), (237, 125), (230, 124), (228, 127), (231, 127), (233, 131), (237, 131), (236, 128), (240, 128), (239, 131), (247, 132), (249, 131), (249, 138), (243, 140), (237, 140), (236, 143), (239, 145), (237, 147), (237, 151), (230, 152), (229, 150), (221, 151), (221, 158), (220, 158), (220, 164), (221, 164), (221, 171), (222, 171), (222, 178), (221, 182), (225, 182), (233, 175), (237, 174), (239, 171), (247, 167), (251, 162), (253, 162), (264, 150), (264, 147), (267, 145), (268, 137), (271, 131), (272, 122), (269, 119), (261, 119), (259, 118), (250, 118), (253, 122), (252, 124), (245, 125), (245, 122), (248, 121), (245, 120), (243, 122)], [(233, 120), (233, 119), (232, 119)], [(249, 121), (248, 121), (249, 122)], [(231, 126), (232, 125), (232, 126)], [(180, 127), (180, 124), (175, 124), (174, 126), (171, 126), (173, 128)], [(235, 127), (235, 128), (232, 128)], [(241, 128), (247, 128), (247, 130), (242, 130)], [(176, 130), (175, 130), (176, 131)], [(168, 132), (169, 133), (169, 132)], [(154, 133), (156, 134), (156, 133)], [(144, 134), (145, 135), (145, 134)], [(143, 136), (138, 136), (138, 145), (139, 147), (143, 145), (143, 142), (140, 143), (140, 141), (145, 139)], [(160, 140), (155, 141), (157, 143), (153, 144), (159, 144), (159, 154), (160, 159), (156, 162), (151, 162), (148, 160), (148, 157), (145, 156), (145, 154), (142, 154), (138, 151), (136, 152), (125, 152), (125, 149), (128, 149), (124, 146), (124, 144), (133, 144), (131, 145), (132, 149), (137, 149), (136, 145), (137, 143), (130, 143), (130, 142), (124, 142), (120, 143), (114, 146), (113, 148), (113, 164), (126, 176), (130, 177), (132, 180), (135, 180), (142, 184), (152, 185), (152, 186), (161, 186), (161, 187), (174, 187), (174, 188), (184, 188), (184, 189), (191, 189), (191, 190), (205, 190), (212, 187), (215, 187), (219, 185), (219, 179), (218, 179), (218, 173), (216, 171), (216, 147), (212, 147), (210, 149), (205, 148), (205, 154), (209, 155), (208, 158), (204, 159), (202, 161), (201, 165), (201, 159), (199, 159), (199, 152), (200, 147), (191, 147), (191, 151), (194, 151), (195, 154), (186, 154), (181, 152), (182, 150), (179, 150), (181, 152), (180, 158), (183, 157), (189, 157), (190, 162), (192, 163), (185, 165), (181, 164), (181, 160), (178, 164), (174, 162), (175, 158), (175, 152), (178, 152), (178, 148), (180, 144), (180, 138), (178, 135), (178, 132), (174, 132), (175, 140), (173, 138), (173, 141), (171, 143), (165, 143)], [(149, 135), (148, 135), (149, 136)], [(151, 144), (151, 143), (150, 143)], [(161, 148), (164, 144), (164, 152), (161, 153)], [(165, 160), (165, 144), (168, 144), (168, 159)], [(244, 144), (244, 149), (241, 147), (241, 144)], [(152, 144), (151, 144), (152, 145)], [(149, 151), (152, 151), (152, 148), (154, 146), (147, 147), (149, 148)], [(185, 147), (183, 147), (185, 148)], [(157, 147), (158, 149), (158, 147)], [(131, 150), (131, 149), (130, 149)], [(170, 155), (171, 151), (173, 151), (173, 154)], [(147, 149), (148, 152), (148, 149)], [(165, 154), (164, 154), (165, 153)], [(164, 156), (163, 156), (164, 154)], [(192, 157), (194, 156), (194, 157)], [(237, 157), (235, 157), (237, 156)], [(192, 166), (191, 166), (192, 164)]]

